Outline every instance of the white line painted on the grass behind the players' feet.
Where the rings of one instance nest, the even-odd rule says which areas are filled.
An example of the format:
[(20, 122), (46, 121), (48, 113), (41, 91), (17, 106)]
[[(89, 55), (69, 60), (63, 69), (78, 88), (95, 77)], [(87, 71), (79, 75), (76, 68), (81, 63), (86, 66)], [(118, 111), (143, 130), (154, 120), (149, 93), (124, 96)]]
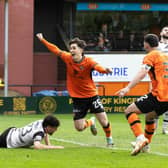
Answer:
[[(100, 146), (100, 145), (91, 145), (91, 144), (86, 144), (86, 143), (81, 143), (81, 142), (76, 142), (72, 140), (66, 140), (66, 139), (61, 139), (61, 138), (50, 138), (51, 140), (59, 141), (59, 142), (65, 142), (65, 143), (71, 143), (79, 146), (88, 146), (88, 147), (98, 147), (98, 148), (105, 148), (105, 149), (116, 149), (116, 150), (127, 150), (130, 151), (128, 148), (117, 148), (117, 147), (105, 147), (105, 146)], [(167, 153), (161, 153), (161, 152), (149, 152), (150, 154), (158, 155), (158, 156), (168, 156)]]

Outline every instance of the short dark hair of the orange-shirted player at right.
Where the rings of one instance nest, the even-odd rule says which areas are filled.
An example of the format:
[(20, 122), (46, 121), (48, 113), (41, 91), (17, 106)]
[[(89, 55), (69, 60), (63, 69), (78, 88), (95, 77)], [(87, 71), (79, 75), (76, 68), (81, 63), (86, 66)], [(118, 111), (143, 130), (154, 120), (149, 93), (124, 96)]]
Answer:
[(159, 45), (159, 38), (156, 34), (147, 34), (144, 37), (144, 41), (151, 47), (157, 47)]

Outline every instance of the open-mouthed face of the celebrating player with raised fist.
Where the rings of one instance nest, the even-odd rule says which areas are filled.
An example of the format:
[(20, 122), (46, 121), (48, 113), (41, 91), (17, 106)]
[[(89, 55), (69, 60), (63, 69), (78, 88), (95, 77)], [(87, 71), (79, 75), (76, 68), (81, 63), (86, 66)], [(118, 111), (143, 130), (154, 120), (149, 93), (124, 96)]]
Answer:
[(82, 58), (83, 49), (80, 48), (76, 43), (70, 45), (70, 53), (74, 62), (79, 62)]

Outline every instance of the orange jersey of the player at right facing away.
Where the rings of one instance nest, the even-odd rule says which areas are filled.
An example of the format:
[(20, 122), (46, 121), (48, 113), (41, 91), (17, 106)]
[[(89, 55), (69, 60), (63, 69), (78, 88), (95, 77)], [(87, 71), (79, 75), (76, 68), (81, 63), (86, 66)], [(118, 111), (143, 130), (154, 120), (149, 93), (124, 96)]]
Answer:
[(159, 101), (168, 101), (168, 55), (153, 50), (144, 57), (143, 64), (152, 67), (149, 71), (152, 94)]

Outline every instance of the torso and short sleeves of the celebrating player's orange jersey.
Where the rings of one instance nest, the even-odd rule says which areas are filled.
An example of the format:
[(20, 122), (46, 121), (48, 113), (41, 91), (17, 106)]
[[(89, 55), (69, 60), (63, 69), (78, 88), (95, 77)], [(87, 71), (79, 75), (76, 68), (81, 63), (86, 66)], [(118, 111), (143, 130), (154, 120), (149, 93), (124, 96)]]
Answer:
[(91, 74), (96, 62), (84, 57), (81, 63), (74, 63), (72, 57), (66, 54), (62, 54), (61, 58), (67, 65), (67, 87), (71, 97), (85, 98), (97, 95)]

